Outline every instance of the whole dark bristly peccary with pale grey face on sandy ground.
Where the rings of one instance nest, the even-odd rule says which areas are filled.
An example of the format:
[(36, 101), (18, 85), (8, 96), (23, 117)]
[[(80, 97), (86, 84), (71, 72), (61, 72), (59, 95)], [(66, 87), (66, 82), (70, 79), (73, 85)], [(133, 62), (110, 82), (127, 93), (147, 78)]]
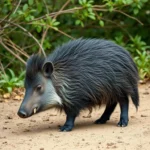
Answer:
[(118, 126), (128, 125), (129, 96), (138, 108), (138, 71), (129, 53), (107, 40), (72, 40), (47, 58), (33, 55), (27, 61), (25, 97), (18, 115), (27, 118), (57, 107), (66, 113), (61, 131), (70, 131), (80, 110), (102, 104), (106, 109), (95, 121), (109, 120), (120, 105)]

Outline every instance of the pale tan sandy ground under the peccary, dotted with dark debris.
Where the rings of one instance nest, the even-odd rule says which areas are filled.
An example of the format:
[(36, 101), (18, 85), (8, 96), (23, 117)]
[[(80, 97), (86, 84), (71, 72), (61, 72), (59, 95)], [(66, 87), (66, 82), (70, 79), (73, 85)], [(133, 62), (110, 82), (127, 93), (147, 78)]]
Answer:
[(120, 109), (103, 125), (93, 122), (104, 107), (86, 117), (84, 111), (76, 119), (71, 132), (59, 132), (65, 115), (49, 110), (21, 119), (17, 116), (20, 102), (0, 103), (0, 150), (150, 150), (150, 83), (140, 85), (140, 107), (136, 112), (130, 102), (128, 127), (117, 127)]

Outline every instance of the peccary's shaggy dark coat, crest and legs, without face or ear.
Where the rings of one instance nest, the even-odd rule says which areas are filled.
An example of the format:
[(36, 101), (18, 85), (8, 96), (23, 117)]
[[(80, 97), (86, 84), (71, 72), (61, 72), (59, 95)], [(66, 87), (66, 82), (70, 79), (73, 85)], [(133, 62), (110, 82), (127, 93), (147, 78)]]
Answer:
[(42, 71), (45, 62), (52, 62), (53, 86), (62, 100), (67, 117), (73, 116), (67, 119), (62, 131), (72, 129), (66, 126), (73, 126), (72, 118), (75, 118), (80, 110), (102, 104), (106, 104), (106, 112), (98, 123), (109, 120), (119, 103), (119, 125), (127, 125), (128, 96), (131, 96), (136, 108), (139, 105), (139, 77), (137, 67), (126, 50), (107, 40), (73, 40), (56, 48), (45, 60), (39, 56), (31, 57), (28, 61), (30, 67), (27, 67), (27, 76), (34, 77)]

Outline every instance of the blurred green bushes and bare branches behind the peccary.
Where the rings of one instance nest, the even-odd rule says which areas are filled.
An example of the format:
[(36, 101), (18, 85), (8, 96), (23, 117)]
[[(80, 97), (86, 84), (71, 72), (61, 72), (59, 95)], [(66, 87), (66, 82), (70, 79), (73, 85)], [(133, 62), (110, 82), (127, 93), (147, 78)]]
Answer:
[(0, 88), (5, 91), (22, 85), (31, 54), (45, 56), (79, 37), (115, 41), (130, 51), (140, 78), (150, 78), (149, 0), (1, 0), (0, 4)]

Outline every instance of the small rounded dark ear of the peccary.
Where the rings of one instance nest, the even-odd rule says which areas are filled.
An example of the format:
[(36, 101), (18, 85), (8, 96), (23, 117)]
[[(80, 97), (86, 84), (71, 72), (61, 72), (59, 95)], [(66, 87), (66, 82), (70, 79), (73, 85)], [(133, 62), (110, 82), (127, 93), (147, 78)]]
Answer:
[(53, 67), (52, 62), (46, 62), (42, 68), (44, 76), (50, 77), (51, 74), (53, 73), (53, 69), (54, 69), (54, 67)]

